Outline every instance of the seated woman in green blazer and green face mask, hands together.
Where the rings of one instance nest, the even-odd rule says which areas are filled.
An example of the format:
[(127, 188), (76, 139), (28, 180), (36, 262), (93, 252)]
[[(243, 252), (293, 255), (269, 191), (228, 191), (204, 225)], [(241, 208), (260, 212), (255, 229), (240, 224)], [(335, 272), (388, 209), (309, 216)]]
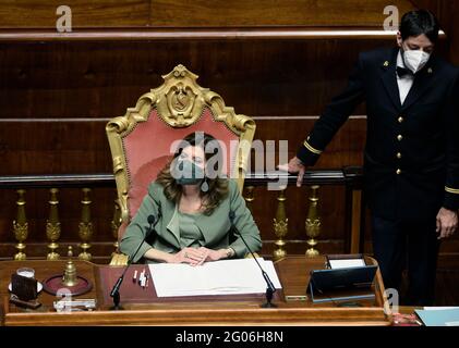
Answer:
[[(213, 151), (209, 151), (213, 149)], [(192, 133), (178, 147), (173, 160), (148, 187), (136, 215), (128, 226), (120, 249), (137, 262), (190, 263), (243, 258), (249, 252), (234, 227), (256, 252), (259, 231), (235, 182), (224, 178), (218, 141), (204, 133)], [(217, 161), (214, 156), (217, 156)], [(220, 158), (218, 158), (220, 157)], [(148, 216), (158, 219), (150, 231)], [(134, 256), (137, 247), (145, 241)]]

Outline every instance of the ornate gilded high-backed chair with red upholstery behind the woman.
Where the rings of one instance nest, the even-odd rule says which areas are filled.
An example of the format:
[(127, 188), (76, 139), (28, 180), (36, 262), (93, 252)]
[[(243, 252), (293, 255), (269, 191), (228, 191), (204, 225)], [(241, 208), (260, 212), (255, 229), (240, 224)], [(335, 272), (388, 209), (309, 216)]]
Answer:
[[(172, 158), (171, 144), (193, 132), (205, 132), (227, 151), (224, 172), (242, 191), (255, 122), (226, 107), (219, 95), (197, 85), (197, 75), (178, 65), (164, 84), (143, 95), (124, 116), (108, 122), (106, 130), (113, 160), (120, 208), (120, 239), (135, 215), (148, 184)], [(125, 264), (114, 253), (110, 264)]]

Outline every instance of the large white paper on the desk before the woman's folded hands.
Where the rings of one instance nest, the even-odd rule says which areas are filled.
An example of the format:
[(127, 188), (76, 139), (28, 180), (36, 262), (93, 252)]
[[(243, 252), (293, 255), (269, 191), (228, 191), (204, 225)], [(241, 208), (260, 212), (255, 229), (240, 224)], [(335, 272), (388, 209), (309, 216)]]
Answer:
[[(257, 259), (274, 286), (281, 288), (271, 261)], [(206, 262), (200, 266), (185, 263), (149, 264), (158, 297), (264, 294), (266, 282), (253, 259)]]

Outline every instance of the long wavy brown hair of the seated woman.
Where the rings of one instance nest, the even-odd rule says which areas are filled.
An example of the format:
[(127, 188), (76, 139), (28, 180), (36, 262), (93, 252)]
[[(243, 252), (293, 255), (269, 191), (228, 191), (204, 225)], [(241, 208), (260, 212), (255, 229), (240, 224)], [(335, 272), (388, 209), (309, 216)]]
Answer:
[[(156, 182), (164, 187), (164, 192), (167, 199), (173, 201), (176, 204), (180, 202), (180, 198), (182, 197), (182, 185), (179, 185), (173, 178), (170, 173), (170, 166), (176, 162), (174, 160), (182, 153), (183, 149), (189, 146), (202, 147), (206, 159), (206, 173), (214, 171), (214, 175), (206, 174), (208, 190), (201, 190), (204, 214), (210, 215), (219, 206), (221, 200), (228, 196), (229, 191), (228, 179), (222, 177), (221, 167), (219, 167), (219, 165), (224, 163), (224, 153), (218, 140), (212, 135), (203, 132), (196, 132), (184, 137), (180, 141), (176, 153), (173, 154), (173, 159), (159, 172)], [(209, 163), (210, 159), (213, 159), (212, 163), (215, 163), (213, 167), (209, 167), (209, 165), (212, 165), (212, 163)], [(215, 165), (217, 165), (217, 167)]]

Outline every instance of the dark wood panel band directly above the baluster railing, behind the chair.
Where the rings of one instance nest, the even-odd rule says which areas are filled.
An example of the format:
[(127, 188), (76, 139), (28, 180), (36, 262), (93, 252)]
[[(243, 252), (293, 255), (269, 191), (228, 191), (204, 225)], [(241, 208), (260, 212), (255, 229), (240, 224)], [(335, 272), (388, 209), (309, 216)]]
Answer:
[[(286, 119), (286, 120), (283, 120)], [(255, 140), (279, 163), (279, 141), (288, 141), (289, 156), (293, 156), (299, 144), (317, 116), (304, 117), (257, 117)], [(0, 175), (110, 173), (111, 156), (105, 125), (107, 121), (61, 120), (59, 122), (1, 122), (0, 154), (3, 165)], [(362, 164), (362, 148), (365, 141), (366, 121), (363, 116), (352, 117), (340, 129), (327, 151), (321, 157), (317, 169)], [(33, 135), (33, 136), (31, 136)], [(274, 141), (276, 152), (269, 152), (267, 141)], [(252, 159), (252, 170), (263, 171)]]

